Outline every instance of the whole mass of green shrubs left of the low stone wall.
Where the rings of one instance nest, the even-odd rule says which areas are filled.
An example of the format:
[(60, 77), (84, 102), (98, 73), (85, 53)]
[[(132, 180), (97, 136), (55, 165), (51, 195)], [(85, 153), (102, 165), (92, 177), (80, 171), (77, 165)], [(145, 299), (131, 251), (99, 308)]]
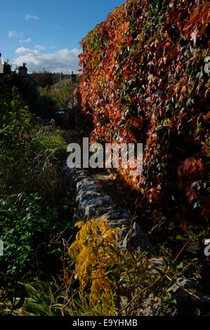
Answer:
[[(0, 98), (0, 260), (1, 284), (10, 285), (58, 265), (60, 241), (51, 244), (70, 215), (60, 163), (65, 133), (32, 125), (32, 114), (13, 87)], [(64, 198), (65, 197), (65, 198)], [(38, 251), (39, 250), (39, 251)], [(37, 256), (38, 253), (38, 256)], [(55, 267), (56, 268), (56, 267)]]

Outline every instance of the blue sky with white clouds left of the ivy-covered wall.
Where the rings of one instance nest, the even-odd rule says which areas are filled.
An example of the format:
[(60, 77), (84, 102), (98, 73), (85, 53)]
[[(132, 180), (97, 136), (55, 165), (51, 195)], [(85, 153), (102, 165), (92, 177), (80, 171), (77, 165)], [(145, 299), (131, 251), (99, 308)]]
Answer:
[(79, 41), (125, 0), (0, 0), (0, 52), (29, 72), (77, 72)]

